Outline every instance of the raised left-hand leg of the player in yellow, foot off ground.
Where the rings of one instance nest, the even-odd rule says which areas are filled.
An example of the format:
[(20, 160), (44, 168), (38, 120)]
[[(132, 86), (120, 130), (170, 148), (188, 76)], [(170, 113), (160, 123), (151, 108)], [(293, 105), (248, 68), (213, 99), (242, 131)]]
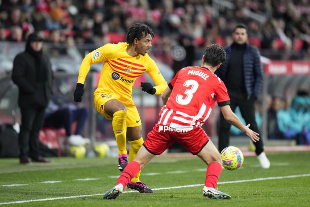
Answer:
[[(124, 163), (123, 167), (125, 167), (128, 163), (126, 150), (126, 107), (113, 95), (107, 94), (95, 94), (94, 106), (106, 119), (112, 119), (112, 128), (119, 148), (119, 169), (120, 163)], [(121, 167), (121, 171), (124, 169), (123, 167)]]

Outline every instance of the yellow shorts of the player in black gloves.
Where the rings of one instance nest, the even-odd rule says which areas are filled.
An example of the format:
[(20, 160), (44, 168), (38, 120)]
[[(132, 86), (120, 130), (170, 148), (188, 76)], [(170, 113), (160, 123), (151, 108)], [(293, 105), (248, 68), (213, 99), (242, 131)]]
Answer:
[(126, 117), (126, 125), (127, 127), (137, 127), (141, 125), (140, 115), (138, 113), (137, 107), (135, 104), (126, 104), (120, 101), (120, 96), (115, 94), (94, 94), (94, 107), (96, 110), (103, 115), (106, 119), (112, 120), (113, 117), (109, 116), (104, 110), (104, 104), (108, 101), (116, 99), (122, 104), (126, 106), (127, 109), (127, 117)]

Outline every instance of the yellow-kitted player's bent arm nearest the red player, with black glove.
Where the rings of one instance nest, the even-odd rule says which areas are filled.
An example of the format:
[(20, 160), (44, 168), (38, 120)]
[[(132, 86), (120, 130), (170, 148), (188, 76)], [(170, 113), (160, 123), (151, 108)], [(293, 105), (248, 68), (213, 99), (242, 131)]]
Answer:
[[(155, 83), (155, 87), (152, 86), (151, 83), (141, 83), (141, 87), (143, 91), (146, 91), (147, 89), (149, 91), (146, 91), (150, 94), (159, 95), (162, 94), (162, 92), (167, 88), (168, 84), (164, 77), (162, 76), (161, 72), (159, 71), (157, 65), (155, 64), (154, 60), (150, 58), (149, 61), (149, 69), (147, 70), (147, 73), (150, 75), (152, 80)], [(150, 86), (151, 85), (151, 86)], [(147, 86), (147, 88), (144, 90), (143, 87)]]

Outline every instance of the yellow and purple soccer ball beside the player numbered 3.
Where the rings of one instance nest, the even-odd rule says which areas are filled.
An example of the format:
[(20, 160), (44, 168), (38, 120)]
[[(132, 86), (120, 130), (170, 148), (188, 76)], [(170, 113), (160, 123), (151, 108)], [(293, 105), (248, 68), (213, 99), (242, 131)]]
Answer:
[(243, 164), (242, 151), (234, 146), (228, 146), (223, 149), (220, 153), (220, 157), (223, 161), (223, 167), (229, 171), (237, 170)]

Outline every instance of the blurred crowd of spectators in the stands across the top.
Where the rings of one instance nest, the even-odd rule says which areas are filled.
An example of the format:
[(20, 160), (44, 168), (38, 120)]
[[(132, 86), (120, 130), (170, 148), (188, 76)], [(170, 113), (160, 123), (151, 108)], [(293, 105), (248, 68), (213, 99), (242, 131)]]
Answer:
[(195, 48), (231, 43), (236, 23), (248, 26), (249, 43), (266, 57), (309, 53), (310, 0), (0, 0), (0, 41), (36, 31), (54, 46), (97, 46), (124, 41), (137, 22), (153, 28), (155, 56), (170, 66), (183, 49), (191, 65)]

